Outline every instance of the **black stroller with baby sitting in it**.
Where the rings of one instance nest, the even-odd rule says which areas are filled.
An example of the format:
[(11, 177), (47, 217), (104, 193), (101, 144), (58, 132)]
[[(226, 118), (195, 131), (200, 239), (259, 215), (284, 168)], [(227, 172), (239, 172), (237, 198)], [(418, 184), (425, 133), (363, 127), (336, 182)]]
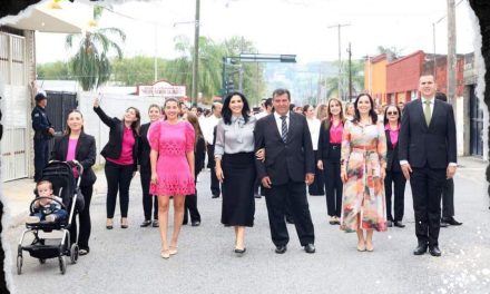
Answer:
[[(84, 196), (78, 187), (80, 177), (76, 179), (74, 173), (84, 173), (78, 161), (50, 161), (42, 170), (42, 177), (37, 184), (37, 196), (29, 205), (30, 222), (26, 223), (17, 248), (17, 274), (22, 272), (23, 251), (41, 264), (46, 259), (58, 258), (61, 274), (67, 270), (65, 256), (70, 256), (71, 263), (77, 263), (79, 247), (76, 242), (70, 242), (69, 228), (75, 209), (84, 209)], [(53, 233), (58, 236), (51, 237), (48, 234), (53, 231), (58, 232)], [(24, 244), (27, 235), (33, 238)]]

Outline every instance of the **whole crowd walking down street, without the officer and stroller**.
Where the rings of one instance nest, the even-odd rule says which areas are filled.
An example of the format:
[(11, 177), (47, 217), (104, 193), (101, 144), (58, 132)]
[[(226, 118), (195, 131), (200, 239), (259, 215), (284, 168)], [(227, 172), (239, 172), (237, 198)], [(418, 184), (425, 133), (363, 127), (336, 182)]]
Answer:
[[(187, 212), (193, 226), (200, 224), (196, 179), (207, 149), (213, 197), (223, 196), (222, 223), (234, 227), (237, 255), (245, 254), (245, 228), (254, 225), (257, 183), (266, 196), (275, 252), (283, 254), (290, 241), (287, 215), (304, 251), (315, 252), (307, 186), (311, 195), (325, 194), (330, 224), (356, 232), (357, 251), (372, 252), (374, 231), (404, 227), (404, 187), (410, 179), (418, 237), (414, 254), (429, 248), (440, 256), (441, 193), (455, 173), (457, 156), (453, 110), (434, 99), (435, 89), (433, 76), (422, 76), (422, 97), (404, 105), (403, 115), (394, 105), (376, 114), (369, 94), (359, 95), (345, 111), (341, 100), (331, 98), (317, 107), (316, 115), (312, 106), (304, 106), (304, 115), (300, 115), (291, 110), (290, 91), (277, 89), (270, 100), (270, 114), (256, 117), (246, 97), (232, 92), (223, 105), (214, 106), (216, 121), (206, 126), (192, 111), (183, 119), (176, 99), (166, 99), (163, 107), (151, 105), (150, 122), (143, 126), (138, 109), (129, 107), (122, 118), (110, 118), (96, 99), (94, 110), (110, 128), (101, 150), (108, 188), (106, 227), (114, 227), (118, 193), (120, 226), (128, 227), (129, 186), (139, 165), (145, 215), (141, 227), (159, 227), (163, 258), (177, 254)], [(60, 151), (74, 148), (75, 157), (72, 151)], [(95, 140), (84, 133), (81, 114), (70, 112), (67, 134), (57, 139), (52, 157), (78, 160), (91, 171), (95, 154)], [(81, 185), (87, 212), (79, 216), (79, 245), (86, 253), (90, 234), (87, 203), (96, 180), (90, 171), (84, 173)], [(168, 239), (170, 197), (174, 231)]]

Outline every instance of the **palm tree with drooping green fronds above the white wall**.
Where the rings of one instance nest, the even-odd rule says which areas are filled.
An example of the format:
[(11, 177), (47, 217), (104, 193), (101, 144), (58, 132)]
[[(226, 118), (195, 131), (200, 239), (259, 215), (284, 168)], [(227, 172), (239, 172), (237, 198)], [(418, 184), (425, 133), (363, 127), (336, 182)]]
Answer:
[[(97, 27), (102, 10), (100, 6), (94, 7), (91, 27)], [(98, 88), (109, 80), (111, 66), (107, 55), (110, 49), (116, 50), (119, 59), (122, 58), (121, 48), (108, 37), (109, 35), (117, 36), (122, 42), (126, 40), (126, 35), (117, 28), (96, 29), (87, 31), (84, 36), (68, 35), (66, 38), (67, 48), (72, 48), (74, 39), (80, 38), (78, 51), (70, 61), (76, 79), (85, 91)]]

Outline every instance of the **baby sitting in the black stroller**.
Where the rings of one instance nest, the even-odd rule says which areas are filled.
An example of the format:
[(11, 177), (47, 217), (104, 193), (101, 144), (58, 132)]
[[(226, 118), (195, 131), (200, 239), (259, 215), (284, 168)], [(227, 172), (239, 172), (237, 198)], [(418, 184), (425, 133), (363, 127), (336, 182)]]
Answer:
[(36, 188), (41, 198), (35, 202), (35, 214), (29, 216), (26, 223), (36, 224), (41, 220), (66, 220), (68, 213), (61, 207), (62, 199), (52, 195), (52, 183), (49, 180), (40, 180)]

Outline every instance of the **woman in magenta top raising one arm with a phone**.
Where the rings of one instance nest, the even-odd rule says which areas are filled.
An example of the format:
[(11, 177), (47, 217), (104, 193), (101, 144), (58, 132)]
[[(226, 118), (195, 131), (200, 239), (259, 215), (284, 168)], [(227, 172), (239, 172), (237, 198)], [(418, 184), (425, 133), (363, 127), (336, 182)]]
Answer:
[(139, 110), (129, 107), (122, 119), (110, 118), (99, 106), (99, 100), (94, 101), (94, 111), (106, 126), (110, 128), (109, 141), (100, 153), (106, 158), (104, 171), (107, 179), (107, 220), (106, 228), (114, 226), (117, 193), (119, 190), (120, 227), (128, 227), (129, 185), (138, 169), (138, 134)]

